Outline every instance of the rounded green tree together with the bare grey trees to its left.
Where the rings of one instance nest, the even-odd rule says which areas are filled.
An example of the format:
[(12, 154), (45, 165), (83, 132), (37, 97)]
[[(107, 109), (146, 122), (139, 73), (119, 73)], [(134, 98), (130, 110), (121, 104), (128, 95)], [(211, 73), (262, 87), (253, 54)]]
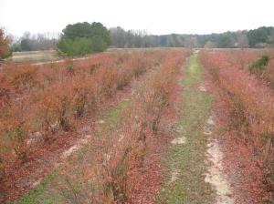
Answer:
[(111, 45), (109, 30), (100, 23), (88, 22), (66, 26), (61, 34), (37, 34), (26, 32), (14, 37), (11, 51), (38, 51), (56, 49), (60, 56), (84, 56), (102, 52)]

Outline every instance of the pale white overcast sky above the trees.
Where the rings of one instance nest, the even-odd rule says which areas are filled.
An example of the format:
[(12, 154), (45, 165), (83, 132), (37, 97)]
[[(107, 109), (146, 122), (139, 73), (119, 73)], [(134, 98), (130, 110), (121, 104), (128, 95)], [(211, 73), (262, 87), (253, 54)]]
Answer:
[(274, 26), (274, 0), (0, 0), (0, 27), (20, 36), (61, 32), (68, 24), (208, 34)]

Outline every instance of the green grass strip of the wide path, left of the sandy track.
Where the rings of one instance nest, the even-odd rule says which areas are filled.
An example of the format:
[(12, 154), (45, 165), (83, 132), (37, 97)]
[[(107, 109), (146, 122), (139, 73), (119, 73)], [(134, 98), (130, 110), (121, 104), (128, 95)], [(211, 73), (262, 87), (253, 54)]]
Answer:
[(186, 143), (174, 145), (163, 158), (166, 178), (170, 180), (175, 168), (178, 169), (178, 174), (173, 183), (166, 181), (167, 184), (159, 195), (159, 203), (204, 204), (213, 201), (213, 190), (204, 180), (207, 138), (203, 135), (212, 97), (196, 88), (201, 80), (201, 66), (196, 56), (191, 56), (183, 80), (182, 114), (176, 124), (177, 128), (183, 129), (180, 134), (186, 138)]

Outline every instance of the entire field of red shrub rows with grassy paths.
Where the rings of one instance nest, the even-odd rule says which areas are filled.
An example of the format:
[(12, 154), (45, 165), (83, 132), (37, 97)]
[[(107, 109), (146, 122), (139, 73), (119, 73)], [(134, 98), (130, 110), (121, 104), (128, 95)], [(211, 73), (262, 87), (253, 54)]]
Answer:
[(28, 55), (0, 70), (1, 203), (273, 202), (273, 49)]

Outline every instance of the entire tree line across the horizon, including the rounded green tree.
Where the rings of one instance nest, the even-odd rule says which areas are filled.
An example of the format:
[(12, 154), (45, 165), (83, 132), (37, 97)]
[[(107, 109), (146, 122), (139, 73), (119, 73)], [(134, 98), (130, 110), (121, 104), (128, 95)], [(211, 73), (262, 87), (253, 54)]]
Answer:
[[(88, 22), (66, 26), (61, 34), (37, 34), (26, 32), (20, 38), (5, 36), (1, 29), (2, 41), (0, 49), (5, 45), (10, 48), (1, 58), (8, 56), (10, 51), (37, 51), (57, 49), (59, 55), (83, 56), (93, 52), (101, 52), (111, 47), (206, 47), (206, 48), (244, 48), (273, 47), (274, 27), (261, 26), (253, 30), (225, 32), (209, 35), (149, 35), (142, 30), (125, 30), (118, 27), (110, 29), (101, 23)], [(8, 39), (8, 40), (7, 40)], [(0, 39), (1, 40), (1, 39)], [(0, 42), (1, 43), (1, 42)], [(1, 51), (3, 53), (3, 51)]]

